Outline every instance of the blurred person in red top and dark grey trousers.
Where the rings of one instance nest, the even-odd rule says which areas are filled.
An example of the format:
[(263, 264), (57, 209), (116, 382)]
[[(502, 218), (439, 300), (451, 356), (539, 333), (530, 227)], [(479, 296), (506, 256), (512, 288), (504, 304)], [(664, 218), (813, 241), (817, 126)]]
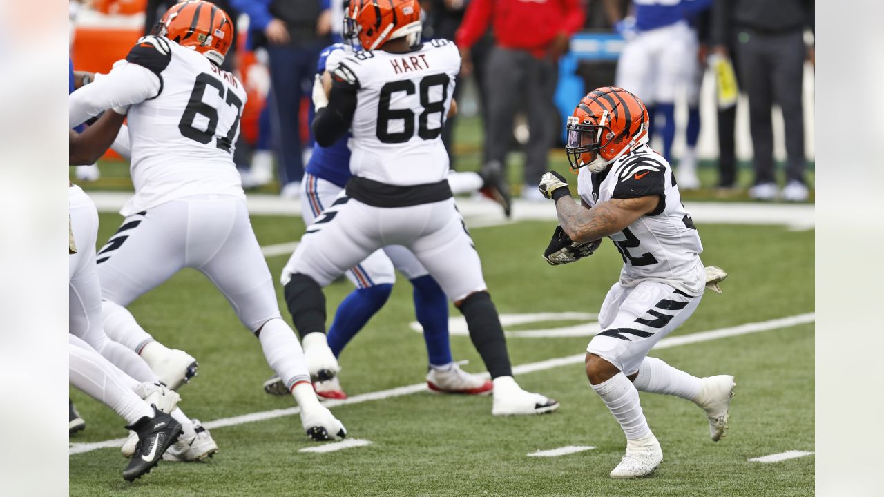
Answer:
[(455, 42), (461, 50), (461, 75), (473, 71), (469, 49), (493, 25), (495, 46), (484, 71), (487, 119), (486, 146), (490, 163), (506, 164), (515, 112), (528, 107), (530, 139), (525, 147), (522, 196), (543, 199), (537, 189), (547, 169), (547, 156), (560, 125), (553, 96), (559, 57), (583, 27), (579, 0), (472, 0)]

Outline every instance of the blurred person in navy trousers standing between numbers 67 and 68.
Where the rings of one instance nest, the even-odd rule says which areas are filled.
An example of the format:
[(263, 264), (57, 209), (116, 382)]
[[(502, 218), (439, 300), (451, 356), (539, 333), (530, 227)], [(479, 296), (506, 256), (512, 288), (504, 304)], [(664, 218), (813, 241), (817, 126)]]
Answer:
[[(329, 0), (230, 0), (248, 14), (253, 47), (270, 58), (273, 145), (281, 195), (301, 193), (301, 97), (308, 95), (319, 52), (331, 43)], [(309, 100), (309, 99), (308, 99)]]

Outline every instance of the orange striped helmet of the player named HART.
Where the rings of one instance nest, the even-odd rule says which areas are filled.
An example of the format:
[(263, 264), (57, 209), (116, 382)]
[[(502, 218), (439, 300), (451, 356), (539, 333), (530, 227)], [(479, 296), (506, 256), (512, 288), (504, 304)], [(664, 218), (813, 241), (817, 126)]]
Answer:
[(402, 36), (415, 46), (421, 41), (421, 29), (417, 0), (350, 0), (344, 12), (344, 39), (358, 38), (362, 50), (375, 50)]

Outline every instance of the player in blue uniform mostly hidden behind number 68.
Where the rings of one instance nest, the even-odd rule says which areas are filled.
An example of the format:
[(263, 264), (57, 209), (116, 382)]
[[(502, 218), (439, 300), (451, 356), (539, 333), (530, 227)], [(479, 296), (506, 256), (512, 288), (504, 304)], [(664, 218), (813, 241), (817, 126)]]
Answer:
[[(335, 43), (320, 53), (314, 85), (317, 109), (328, 104), (323, 78), (330, 80), (325, 74), (333, 71), (343, 57), (352, 53), (353, 49), (343, 43)], [(452, 107), (449, 112), (453, 110)], [(347, 136), (343, 136), (329, 147), (318, 143), (313, 147), (313, 154), (301, 182), (304, 187), (301, 195), (301, 216), (307, 226), (312, 225), (324, 209), (337, 209), (333, 204), (351, 176), (347, 139)], [(486, 168), (481, 173), (450, 171), (446, 180), (455, 194), (484, 190), (487, 195), (498, 200), (505, 214), (509, 215), (509, 194), (499, 168)], [(330, 212), (324, 213), (329, 214)], [(394, 267), (405, 274), (414, 287), (415, 315), (423, 326), (423, 337), (430, 359), (427, 386), (434, 392), (451, 394), (485, 394), (491, 391), (491, 381), (476, 378), (462, 371), (453, 362), (448, 343), (448, 301), (445, 293), (408, 249), (395, 245), (375, 251), (347, 271), (347, 278), (356, 289), (339, 305), (329, 328), (328, 341), (326, 342), (322, 333), (301, 337), (308, 366), (328, 367), (329, 361), (323, 360), (323, 356), (327, 358), (328, 349), (331, 348), (335, 358), (339, 357), (347, 342), (384, 306), (395, 281)], [(283, 270), (283, 286), (289, 282), (291, 276), (290, 261)], [(326, 373), (321, 377), (319, 373), (316, 369), (310, 371), (317, 394), (329, 398), (347, 397), (340, 388), (337, 375), (328, 378)], [(270, 394), (284, 393), (280, 386), (278, 378), (271, 378), (264, 389)]]

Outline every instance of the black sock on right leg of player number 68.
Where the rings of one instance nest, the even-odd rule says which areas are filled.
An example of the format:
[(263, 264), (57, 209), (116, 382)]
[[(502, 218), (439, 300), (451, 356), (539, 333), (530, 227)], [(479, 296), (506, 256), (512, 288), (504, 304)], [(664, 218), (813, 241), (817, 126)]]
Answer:
[(476, 292), (461, 303), (461, 313), (467, 319), (469, 339), (482, 356), (492, 378), (513, 376), (509, 363), (507, 340), (503, 336), (497, 309), (488, 292)]

